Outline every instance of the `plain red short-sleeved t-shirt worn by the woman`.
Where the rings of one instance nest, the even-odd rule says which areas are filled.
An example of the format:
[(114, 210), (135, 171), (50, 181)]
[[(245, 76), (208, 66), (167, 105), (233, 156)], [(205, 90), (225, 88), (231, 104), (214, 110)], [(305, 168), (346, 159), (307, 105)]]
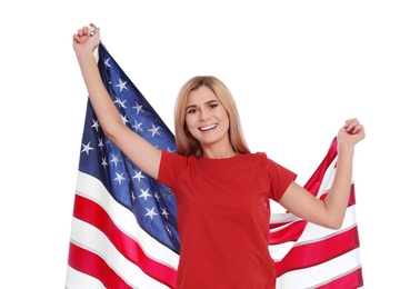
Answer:
[(177, 198), (181, 239), (177, 289), (272, 289), (269, 199), (297, 177), (266, 153), (228, 159), (163, 151), (158, 180)]

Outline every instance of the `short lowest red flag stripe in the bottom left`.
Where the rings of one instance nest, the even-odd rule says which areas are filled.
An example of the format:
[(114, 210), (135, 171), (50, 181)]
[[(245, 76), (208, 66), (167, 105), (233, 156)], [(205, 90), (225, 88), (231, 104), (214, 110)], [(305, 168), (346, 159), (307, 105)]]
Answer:
[(130, 289), (107, 262), (98, 255), (70, 242), (69, 266), (100, 280), (106, 288)]

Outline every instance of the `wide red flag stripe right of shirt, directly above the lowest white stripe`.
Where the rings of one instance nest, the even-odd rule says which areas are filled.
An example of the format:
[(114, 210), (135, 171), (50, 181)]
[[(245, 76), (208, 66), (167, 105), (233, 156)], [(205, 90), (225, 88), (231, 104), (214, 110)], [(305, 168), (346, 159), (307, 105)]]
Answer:
[(353, 227), (326, 240), (296, 246), (276, 263), (277, 276), (326, 262), (358, 248), (359, 245), (358, 229)]

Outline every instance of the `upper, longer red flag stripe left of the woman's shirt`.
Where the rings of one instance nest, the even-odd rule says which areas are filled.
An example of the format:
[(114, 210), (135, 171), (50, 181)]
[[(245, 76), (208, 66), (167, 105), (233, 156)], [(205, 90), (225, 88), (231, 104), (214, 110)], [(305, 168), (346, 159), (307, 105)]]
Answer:
[(136, 240), (124, 235), (94, 201), (76, 195), (73, 216), (101, 230), (127, 259), (151, 278), (174, 288), (177, 271), (150, 259)]

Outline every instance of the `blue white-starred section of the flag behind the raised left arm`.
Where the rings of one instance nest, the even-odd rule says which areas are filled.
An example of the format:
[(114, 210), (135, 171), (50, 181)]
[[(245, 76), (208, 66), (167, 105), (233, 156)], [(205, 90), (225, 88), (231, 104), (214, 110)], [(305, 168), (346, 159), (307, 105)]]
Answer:
[[(101, 63), (99, 67), (107, 70), (107, 73), (102, 73), (106, 76), (103, 82), (124, 124), (154, 147), (174, 152), (173, 133), (127, 76), (118, 70), (117, 63), (111, 58), (102, 61), (102, 67)], [(103, 134), (91, 107), (88, 114), (90, 122), (83, 132), (81, 169), (94, 170), (92, 175), (101, 179), (117, 201), (134, 213), (143, 229), (160, 242), (178, 250), (176, 199), (172, 191), (137, 168)], [(93, 168), (93, 163), (98, 163), (98, 168)]]

